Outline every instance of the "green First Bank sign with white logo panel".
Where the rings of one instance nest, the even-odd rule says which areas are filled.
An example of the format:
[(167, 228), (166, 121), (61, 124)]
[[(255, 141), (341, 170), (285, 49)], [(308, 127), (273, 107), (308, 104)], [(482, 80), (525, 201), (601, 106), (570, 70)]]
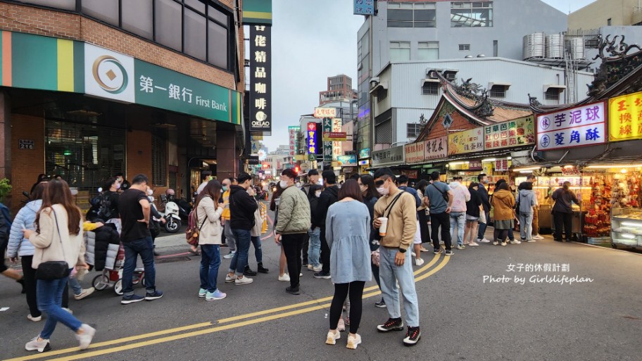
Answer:
[(240, 124), (240, 95), (115, 51), (84, 44), (85, 93)]

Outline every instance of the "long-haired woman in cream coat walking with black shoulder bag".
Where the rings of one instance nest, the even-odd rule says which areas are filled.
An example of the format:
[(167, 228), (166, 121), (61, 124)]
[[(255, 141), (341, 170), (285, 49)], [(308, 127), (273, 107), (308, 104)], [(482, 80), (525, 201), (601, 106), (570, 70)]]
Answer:
[(74, 266), (89, 268), (84, 262), (82, 215), (73, 202), (67, 182), (54, 179), (42, 194), (42, 208), (36, 216), (36, 230), (23, 230), (34, 246), (32, 267), (36, 270), (38, 309), (47, 314), (44, 329), (27, 342), (27, 351), (51, 350), (49, 337), (58, 322), (75, 332), (84, 350), (92, 343), (96, 330), (83, 324), (61, 308), (63, 291)]

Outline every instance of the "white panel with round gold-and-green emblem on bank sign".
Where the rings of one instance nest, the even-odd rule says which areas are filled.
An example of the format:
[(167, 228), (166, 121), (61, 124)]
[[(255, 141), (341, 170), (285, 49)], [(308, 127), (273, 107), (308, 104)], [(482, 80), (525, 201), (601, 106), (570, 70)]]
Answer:
[(134, 58), (84, 44), (84, 87), (87, 94), (135, 103)]

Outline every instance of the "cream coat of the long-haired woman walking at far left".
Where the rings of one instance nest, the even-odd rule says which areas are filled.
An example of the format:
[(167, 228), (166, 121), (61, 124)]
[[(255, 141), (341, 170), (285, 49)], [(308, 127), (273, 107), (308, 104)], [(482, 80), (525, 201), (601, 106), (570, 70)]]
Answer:
[[(56, 212), (58, 225), (56, 227)], [(67, 211), (60, 204), (40, 211), (40, 233), (34, 232), (29, 241), (34, 246), (34, 256), (31, 267), (38, 268), (41, 262), (64, 260), (69, 268), (84, 264), (84, 237), (82, 234), (82, 219), (78, 227), (80, 232), (76, 235), (69, 234), (67, 226)], [(58, 235), (58, 228), (60, 235)]]

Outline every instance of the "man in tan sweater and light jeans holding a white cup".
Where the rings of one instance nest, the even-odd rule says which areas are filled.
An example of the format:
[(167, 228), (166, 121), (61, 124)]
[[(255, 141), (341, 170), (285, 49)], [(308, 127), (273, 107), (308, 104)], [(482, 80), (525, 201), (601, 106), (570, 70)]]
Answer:
[(395, 176), (390, 168), (374, 173), (374, 185), (382, 195), (374, 205), (374, 228), (379, 229), (379, 217), (388, 218), (386, 235), (380, 239), (379, 277), (381, 290), (390, 318), (377, 326), (379, 332), (403, 330), (399, 290), (403, 295), (408, 332), (403, 338), (406, 346), (414, 346), (421, 338), (419, 328), (419, 302), (415, 291), (415, 276), (408, 248), (413, 244), (417, 232), (417, 204), (415, 197), (398, 189)]

